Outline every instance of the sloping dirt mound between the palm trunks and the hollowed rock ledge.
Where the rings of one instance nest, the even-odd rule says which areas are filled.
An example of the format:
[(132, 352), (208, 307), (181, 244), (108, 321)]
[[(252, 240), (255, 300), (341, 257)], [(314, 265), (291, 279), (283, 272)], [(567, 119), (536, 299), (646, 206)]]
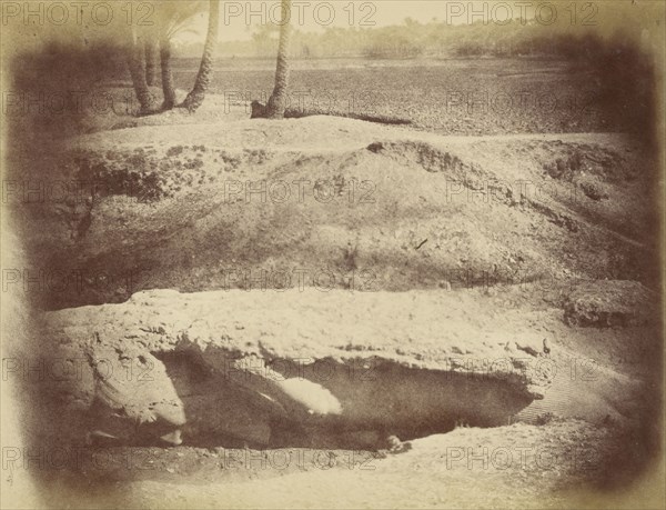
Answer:
[(568, 153), (609, 168), (610, 146), (622, 168), (647, 163), (622, 137), (559, 138), (450, 139), (330, 117), (85, 136), (49, 162), (71, 186), (19, 203), (33, 264), (59, 271), (37, 298), (53, 309), (151, 288), (650, 281), (650, 209), (637, 199), (649, 176), (605, 180), (609, 198), (596, 200), (544, 170)]

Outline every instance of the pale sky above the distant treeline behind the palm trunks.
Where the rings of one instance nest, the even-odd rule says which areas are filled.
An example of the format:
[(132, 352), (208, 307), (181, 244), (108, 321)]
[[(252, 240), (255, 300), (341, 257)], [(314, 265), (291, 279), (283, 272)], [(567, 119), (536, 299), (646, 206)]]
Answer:
[[(188, 1), (188, 0), (182, 0)], [(437, 18), (450, 24), (483, 20), (503, 24), (507, 19), (535, 16), (548, 26), (554, 22), (595, 27), (602, 32), (630, 23), (654, 26), (663, 30), (664, 0), (292, 0), (292, 22), (296, 29), (322, 31), (326, 27), (372, 28), (400, 24), (405, 18), (420, 22)], [(281, 20), (280, 0), (239, 0), (221, 3), (220, 40), (250, 39), (252, 29)], [(572, 10), (573, 9), (573, 10)], [(655, 26), (655, 23), (657, 23)], [(179, 39), (203, 41), (208, 26), (206, 12), (195, 17), (196, 33), (182, 33)]]

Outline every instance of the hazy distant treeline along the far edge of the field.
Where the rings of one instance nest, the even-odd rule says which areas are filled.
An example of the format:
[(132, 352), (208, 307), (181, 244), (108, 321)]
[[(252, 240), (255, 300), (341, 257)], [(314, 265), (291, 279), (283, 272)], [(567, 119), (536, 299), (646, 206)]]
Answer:
[[(279, 28), (258, 27), (248, 41), (223, 42), (220, 57), (273, 58)], [(477, 22), (457, 24), (433, 20), (382, 28), (327, 28), (323, 32), (294, 30), (292, 56), (296, 59), (366, 58), (414, 59), (456, 57), (564, 58), (596, 53), (601, 41), (581, 26), (544, 26), (536, 20), (515, 19), (507, 24)], [(201, 54), (201, 46), (181, 48), (183, 57)]]

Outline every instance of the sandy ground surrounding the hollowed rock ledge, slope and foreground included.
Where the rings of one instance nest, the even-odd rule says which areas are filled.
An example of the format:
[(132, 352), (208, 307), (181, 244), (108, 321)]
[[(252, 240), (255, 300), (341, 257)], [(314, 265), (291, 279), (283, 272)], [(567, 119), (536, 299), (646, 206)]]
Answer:
[[(107, 456), (100, 468), (84, 450), (93, 460), (36, 470), (53, 507), (75, 494), (67, 507), (568, 508), (642, 478), (658, 450), (652, 399), (662, 347), (658, 186), (638, 142), (619, 133), (443, 137), (327, 117), (251, 121), (243, 106), (215, 113), (220, 101), (211, 97), (196, 118), (85, 120), (90, 132), (57, 142), (53, 158), (12, 153), (26, 176), (49, 168), (50, 179), (102, 188), (10, 204), (33, 267), (78, 269), (87, 282), (46, 286), (31, 299), (62, 310), (145, 289), (262, 292), (221, 268), (325, 268), (345, 299), (357, 290), (350, 277), (370, 270), (367, 291), (426, 292), (426, 306), (452, 322), (549, 338), (557, 374), (511, 422), (415, 438), (398, 454), (185, 442), (97, 450)], [(303, 201), (230, 189), (305, 178), (327, 182), (333, 206), (314, 184)], [(361, 197), (372, 201), (349, 199), (340, 183), (352, 178), (371, 182)], [(102, 270), (111, 284), (95, 280)], [(27, 388), (40, 392), (42, 382)], [(27, 413), (34, 444), (58, 441), (43, 422), (59, 412)], [(67, 448), (82, 446), (80, 433), (68, 436)]]

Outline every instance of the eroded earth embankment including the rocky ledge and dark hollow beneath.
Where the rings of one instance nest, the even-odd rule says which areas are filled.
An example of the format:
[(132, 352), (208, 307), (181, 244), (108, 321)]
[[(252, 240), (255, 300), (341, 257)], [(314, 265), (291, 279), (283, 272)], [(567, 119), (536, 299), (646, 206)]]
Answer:
[[(418, 492), (405, 470), (475, 441), (465, 426), (561, 454), (575, 438), (599, 452), (596, 473), (618, 454), (608, 437), (649, 434), (656, 189), (622, 134), (440, 137), (313, 117), (135, 126), (32, 159), (17, 164), (59, 190), (29, 203), (19, 186), (9, 204), (29, 269), (44, 271), (27, 287), (49, 310), (40, 357), (63, 376), (31, 387), (42, 441), (102, 429), (123, 449), (179, 430), (183, 444), (139, 478), (208, 482), (239, 474), (212, 468), (215, 448), (376, 451), (395, 434), (413, 449), (375, 480), (389, 491), (403, 473)], [(576, 463), (477, 481), (450, 468), (466, 494), (585, 478)]]

